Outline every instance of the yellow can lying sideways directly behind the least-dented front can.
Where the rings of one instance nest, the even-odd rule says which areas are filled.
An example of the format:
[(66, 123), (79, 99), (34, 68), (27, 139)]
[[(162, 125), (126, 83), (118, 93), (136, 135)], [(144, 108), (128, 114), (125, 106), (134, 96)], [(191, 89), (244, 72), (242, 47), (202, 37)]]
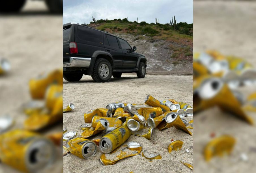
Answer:
[(118, 118), (94, 116), (92, 118), (92, 127), (96, 128), (98, 122), (101, 122), (101, 124), (106, 128), (107, 127), (117, 127), (118, 128), (118, 127), (122, 126), (122, 124), (123, 124), (122, 121), (119, 120)]

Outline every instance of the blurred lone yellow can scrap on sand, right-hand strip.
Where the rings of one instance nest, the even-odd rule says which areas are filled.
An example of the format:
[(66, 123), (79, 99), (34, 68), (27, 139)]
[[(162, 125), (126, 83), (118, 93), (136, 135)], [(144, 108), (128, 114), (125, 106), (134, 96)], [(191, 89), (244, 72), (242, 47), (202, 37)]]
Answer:
[(206, 144), (204, 149), (204, 157), (206, 161), (210, 161), (214, 156), (223, 156), (224, 153), (231, 154), (236, 139), (230, 135), (222, 135), (212, 139)]

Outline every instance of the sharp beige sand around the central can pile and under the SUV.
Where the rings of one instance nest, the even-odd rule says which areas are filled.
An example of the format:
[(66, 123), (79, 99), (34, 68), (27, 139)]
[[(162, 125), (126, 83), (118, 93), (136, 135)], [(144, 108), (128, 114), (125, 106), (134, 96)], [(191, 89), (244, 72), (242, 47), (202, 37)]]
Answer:
[[(63, 80), (63, 105), (72, 102), (76, 108), (63, 114), (63, 127), (68, 131), (76, 131), (81, 136), (79, 126), (84, 123), (83, 114), (90, 109), (105, 108), (113, 102), (126, 102), (142, 104), (145, 97), (175, 99), (192, 104), (192, 76), (149, 76), (137, 78), (134, 75), (125, 75), (120, 79), (112, 78), (107, 83), (95, 83), (91, 76), (83, 76), (79, 82)], [(192, 117), (190, 117), (191, 119)], [(191, 130), (193, 132), (193, 130)], [(102, 134), (90, 139), (101, 138)], [(169, 154), (167, 147), (171, 139), (184, 142), (182, 150)], [(144, 149), (154, 149), (162, 156), (160, 160), (150, 162), (141, 155), (129, 157), (118, 161), (115, 165), (103, 166), (99, 162), (102, 154), (99, 147), (97, 154), (89, 159), (81, 159), (72, 154), (63, 157), (64, 172), (191, 172), (180, 163), (184, 161), (193, 165), (193, 137), (174, 127), (159, 131), (155, 130), (152, 140), (131, 135), (126, 141), (135, 141)], [(186, 153), (185, 149), (189, 149)]]

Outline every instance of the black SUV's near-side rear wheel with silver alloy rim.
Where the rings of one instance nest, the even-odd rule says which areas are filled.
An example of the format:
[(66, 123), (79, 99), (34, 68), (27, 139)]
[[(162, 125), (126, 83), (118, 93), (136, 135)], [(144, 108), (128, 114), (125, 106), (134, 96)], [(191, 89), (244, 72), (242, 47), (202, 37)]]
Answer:
[(99, 58), (94, 64), (92, 79), (94, 82), (108, 82), (112, 76), (112, 66), (108, 60)]

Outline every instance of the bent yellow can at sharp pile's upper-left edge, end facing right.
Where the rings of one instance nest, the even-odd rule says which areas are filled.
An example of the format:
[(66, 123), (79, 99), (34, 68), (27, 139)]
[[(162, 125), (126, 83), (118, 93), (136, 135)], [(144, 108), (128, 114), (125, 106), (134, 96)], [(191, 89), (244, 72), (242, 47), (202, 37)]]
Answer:
[(85, 123), (91, 123), (92, 118), (94, 116), (112, 117), (112, 114), (111, 114), (111, 111), (109, 109), (104, 109), (104, 108), (98, 108), (98, 109), (90, 110), (89, 112), (84, 114)]

